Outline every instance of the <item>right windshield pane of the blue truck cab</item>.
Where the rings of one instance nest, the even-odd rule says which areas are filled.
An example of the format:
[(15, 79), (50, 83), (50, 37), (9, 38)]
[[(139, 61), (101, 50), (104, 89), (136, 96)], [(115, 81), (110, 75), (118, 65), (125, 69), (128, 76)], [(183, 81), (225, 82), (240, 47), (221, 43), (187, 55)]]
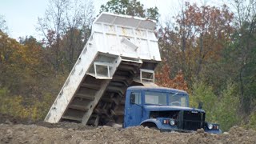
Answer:
[(186, 94), (169, 94), (169, 106), (188, 107), (188, 97)]

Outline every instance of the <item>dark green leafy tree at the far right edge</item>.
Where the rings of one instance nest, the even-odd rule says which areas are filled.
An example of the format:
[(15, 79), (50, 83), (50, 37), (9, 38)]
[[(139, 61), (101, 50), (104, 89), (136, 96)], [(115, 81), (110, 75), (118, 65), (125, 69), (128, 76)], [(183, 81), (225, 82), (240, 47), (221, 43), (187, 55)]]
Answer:
[[(243, 22), (233, 36), (233, 42), (226, 47), (224, 62), (226, 73), (238, 83), (238, 94), (243, 114), (254, 110), (256, 94), (256, 19)], [(229, 68), (229, 69), (228, 69)]]

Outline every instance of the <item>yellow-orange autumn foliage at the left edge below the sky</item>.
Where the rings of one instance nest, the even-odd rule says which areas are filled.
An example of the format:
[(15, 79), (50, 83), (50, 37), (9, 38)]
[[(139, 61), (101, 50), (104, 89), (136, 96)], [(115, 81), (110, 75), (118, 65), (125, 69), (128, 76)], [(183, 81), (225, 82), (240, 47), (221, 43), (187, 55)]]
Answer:
[[(36, 75), (42, 70), (42, 47), (35, 38), (26, 38), (23, 44), (0, 33), (0, 62), (15, 74)], [(35, 70), (37, 72), (35, 72)]]

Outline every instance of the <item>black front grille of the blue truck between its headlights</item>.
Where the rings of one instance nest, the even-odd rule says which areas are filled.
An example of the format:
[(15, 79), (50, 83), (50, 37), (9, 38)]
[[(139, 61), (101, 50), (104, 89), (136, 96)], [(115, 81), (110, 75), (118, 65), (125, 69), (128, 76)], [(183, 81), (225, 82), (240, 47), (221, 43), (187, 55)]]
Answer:
[(205, 113), (198, 111), (180, 111), (178, 114), (178, 128), (182, 130), (198, 130), (203, 128)]

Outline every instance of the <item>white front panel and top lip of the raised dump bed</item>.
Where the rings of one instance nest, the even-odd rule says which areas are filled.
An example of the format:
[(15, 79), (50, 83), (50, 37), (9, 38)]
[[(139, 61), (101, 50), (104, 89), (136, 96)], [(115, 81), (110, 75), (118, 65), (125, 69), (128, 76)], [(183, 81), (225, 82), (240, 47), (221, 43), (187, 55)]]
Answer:
[(145, 18), (102, 13), (92, 31), (98, 50), (103, 53), (161, 61), (155, 26), (154, 21)]

